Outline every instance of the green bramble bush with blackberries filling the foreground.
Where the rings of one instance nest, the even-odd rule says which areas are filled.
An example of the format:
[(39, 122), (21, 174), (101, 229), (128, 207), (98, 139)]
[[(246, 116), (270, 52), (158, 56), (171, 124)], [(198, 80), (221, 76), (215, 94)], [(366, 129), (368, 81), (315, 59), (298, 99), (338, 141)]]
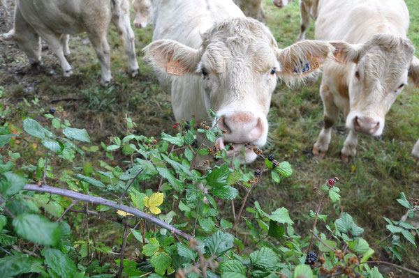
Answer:
[[(263, 180), (291, 176), (291, 165), (253, 146), (263, 169), (231, 161), (215, 144), (223, 131), (206, 123), (175, 123), (178, 133), (158, 140), (136, 134), (125, 118), (125, 137), (93, 146), (86, 130), (57, 115), (45, 114), (45, 127), (26, 118), (22, 132), (8, 123), (0, 129), (0, 277), (375, 278), (383, 276), (374, 265), (386, 262), (369, 261), (374, 249), (402, 261), (402, 241), (416, 247), (418, 231), (406, 222), (385, 218), (388, 237), (372, 247), (348, 213), (321, 214), (325, 201), (339, 206), (338, 178), (314, 187), (311, 234), (297, 235), (286, 208), (265, 212), (248, 201)], [(36, 150), (36, 164), (13, 153), (17, 140)], [(99, 158), (89, 162), (86, 153)], [(403, 193), (397, 201), (409, 217), (419, 209)], [(115, 222), (119, 245), (95, 240), (89, 217)]]

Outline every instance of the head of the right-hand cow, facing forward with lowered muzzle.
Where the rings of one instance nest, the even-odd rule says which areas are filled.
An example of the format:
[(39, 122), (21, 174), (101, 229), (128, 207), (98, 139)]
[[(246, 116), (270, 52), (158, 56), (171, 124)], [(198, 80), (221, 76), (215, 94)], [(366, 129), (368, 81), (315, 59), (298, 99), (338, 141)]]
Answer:
[(413, 56), (410, 40), (378, 34), (361, 45), (331, 42), (335, 57), (342, 63), (353, 62), (348, 93), (350, 111), (346, 128), (372, 136), (383, 132), (387, 114), (408, 77), (419, 86), (419, 61)]

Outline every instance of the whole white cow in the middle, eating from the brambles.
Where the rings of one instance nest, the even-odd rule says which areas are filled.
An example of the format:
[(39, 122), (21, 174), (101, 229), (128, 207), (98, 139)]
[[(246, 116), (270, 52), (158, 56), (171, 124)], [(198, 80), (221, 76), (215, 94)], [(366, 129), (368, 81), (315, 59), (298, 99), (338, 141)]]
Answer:
[(175, 118), (214, 123), (213, 109), (222, 116), (218, 127), (227, 130), (219, 146), (233, 144), (228, 155), (242, 162), (256, 158), (251, 148), (242, 157), (242, 147), (266, 143), (277, 77), (300, 79), (332, 49), (309, 40), (279, 49), (269, 29), (231, 0), (155, 0), (153, 13), (153, 43), (145, 54), (171, 93)]

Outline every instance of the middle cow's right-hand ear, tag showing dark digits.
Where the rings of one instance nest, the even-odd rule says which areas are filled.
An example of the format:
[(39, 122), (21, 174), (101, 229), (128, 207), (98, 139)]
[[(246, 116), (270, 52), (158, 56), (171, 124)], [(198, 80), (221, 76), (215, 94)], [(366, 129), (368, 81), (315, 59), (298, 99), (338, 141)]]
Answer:
[(281, 65), (278, 75), (286, 81), (309, 75), (331, 58), (333, 49), (332, 45), (320, 40), (302, 40), (278, 49), (277, 59)]

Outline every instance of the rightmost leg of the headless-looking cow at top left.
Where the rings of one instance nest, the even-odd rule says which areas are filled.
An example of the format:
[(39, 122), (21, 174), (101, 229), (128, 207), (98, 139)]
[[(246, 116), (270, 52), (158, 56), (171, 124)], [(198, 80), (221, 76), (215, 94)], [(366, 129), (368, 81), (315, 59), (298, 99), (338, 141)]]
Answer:
[(131, 28), (128, 1), (122, 0), (120, 6), (115, 7), (112, 22), (117, 27), (119, 38), (124, 42), (125, 52), (128, 55), (128, 74), (135, 77), (138, 74), (138, 61), (135, 58), (135, 37)]

